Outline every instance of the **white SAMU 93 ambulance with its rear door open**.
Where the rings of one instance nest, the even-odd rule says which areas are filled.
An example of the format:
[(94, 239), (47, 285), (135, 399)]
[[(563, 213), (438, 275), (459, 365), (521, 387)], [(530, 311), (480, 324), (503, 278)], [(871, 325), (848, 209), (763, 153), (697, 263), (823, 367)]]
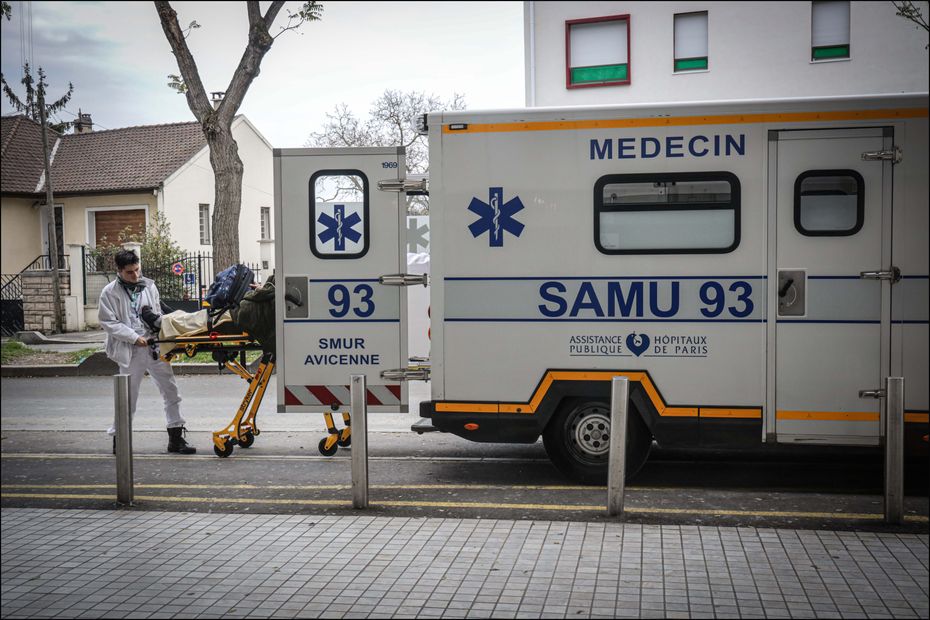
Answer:
[[(879, 446), (905, 377), (926, 453), (928, 96), (445, 112), (430, 146), (436, 429), (603, 480), (663, 447)], [(401, 148), (275, 151), (278, 403), (406, 411)], [(281, 286), (281, 284), (284, 286)], [(285, 303), (289, 292), (302, 300)]]

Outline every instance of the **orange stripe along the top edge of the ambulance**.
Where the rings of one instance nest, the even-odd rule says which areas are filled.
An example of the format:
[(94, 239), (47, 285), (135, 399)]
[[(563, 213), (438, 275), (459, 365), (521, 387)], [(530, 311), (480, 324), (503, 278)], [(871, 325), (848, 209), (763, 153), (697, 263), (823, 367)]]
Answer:
[(827, 112), (782, 112), (763, 114), (718, 114), (648, 118), (617, 118), (577, 121), (524, 121), (516, 123), (470, 123), (466, 129), (450, 129), (444, 134), (497, 133), (512, 131), (566, 131), (570, 129), (619, 129), (627, 127), (681, 127), (698, 125), (736, 125), (748, 123), (801, 123), (808, 121), (863, 121), (896, 118), (924, 118), (927, 108), (888, 110), (839, 110)]

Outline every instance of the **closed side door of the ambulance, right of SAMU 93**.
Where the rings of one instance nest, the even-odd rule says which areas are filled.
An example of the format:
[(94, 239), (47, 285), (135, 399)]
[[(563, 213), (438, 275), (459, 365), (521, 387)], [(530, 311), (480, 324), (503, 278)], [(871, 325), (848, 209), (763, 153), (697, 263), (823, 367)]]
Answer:
[(779, 441), (874, 444), (888, 374), (890, 162), (883, 128), (777, 134), (775, 338)]

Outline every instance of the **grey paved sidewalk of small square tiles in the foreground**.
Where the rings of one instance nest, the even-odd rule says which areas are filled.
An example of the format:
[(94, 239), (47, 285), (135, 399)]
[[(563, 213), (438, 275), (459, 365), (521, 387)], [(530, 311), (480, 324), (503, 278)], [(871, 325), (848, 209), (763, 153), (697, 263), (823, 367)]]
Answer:
[(4, 509), (2, 616), (928, 615), (927, 535)]

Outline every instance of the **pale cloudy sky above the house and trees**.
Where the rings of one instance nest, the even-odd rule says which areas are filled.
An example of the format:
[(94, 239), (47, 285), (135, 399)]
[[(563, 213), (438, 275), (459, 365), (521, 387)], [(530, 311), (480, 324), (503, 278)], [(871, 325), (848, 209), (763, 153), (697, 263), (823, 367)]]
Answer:
[[(153, 3), (11, 4), (0, 51), (3, 75), (20, 97), (25, 58), (44, 68), (49, 99), (74, 84), (61, 120), (79, 109), (98, 130), (194, 120), (186, 98), (167, 86), (180, 71)], [(285, 5), (273, 33), (300, 4)], [(172, 6), (182, 27), (201, 26), (187, 40), (207, 91), (226, 90), (245, 46), (245, 3)], [(469, 109), (524, 105), (521, 2), (324, 1), (323, 9), (322, 21), (275, 40), (239, 109), (274, 147), (303, 146), (337, 104), (366, 115), (388, 88), (462, 93)], [(0, 110), (13, 113), (5, 97)]]

